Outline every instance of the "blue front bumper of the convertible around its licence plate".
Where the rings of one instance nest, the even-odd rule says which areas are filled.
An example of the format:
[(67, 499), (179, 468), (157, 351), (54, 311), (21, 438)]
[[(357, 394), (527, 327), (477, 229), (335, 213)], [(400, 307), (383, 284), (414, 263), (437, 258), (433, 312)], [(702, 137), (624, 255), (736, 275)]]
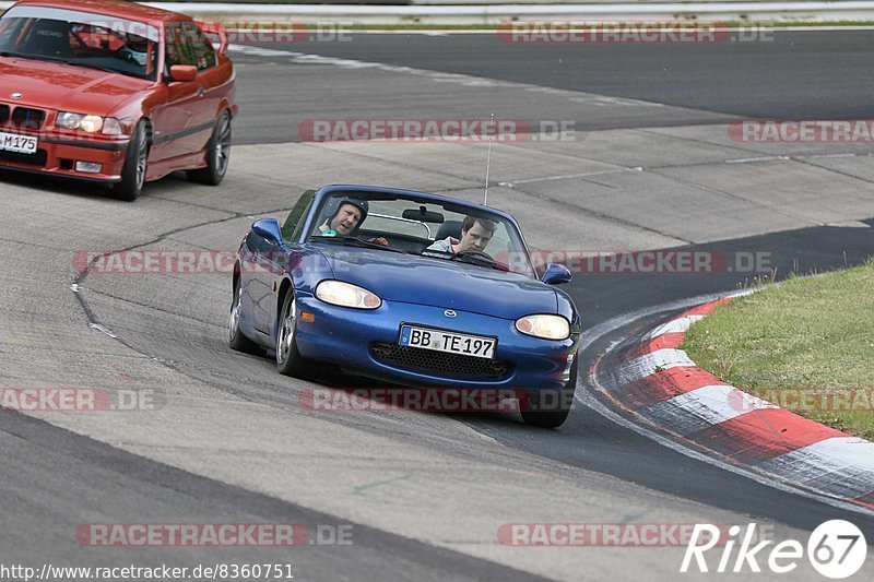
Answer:
[[(449, 319), (441, 307), (383, 300), (378, 309), (351, 309), (302, 293), (296, 301), (298, 314), (314, 316), (312, 321), (298, 318), (297, 349), (302, 356), (392, 383), (528, 391), (560, 389), (568, 381), (579, 342), (579, 333), (560, 342), (531, 337), (517, 331), (513, 321), (480, 313), (457, 310), (457, 317)], [(496, 337), (497, 348), (492, 361), (400, 348), (402, 324)], [(414, 357), (408, 357), (410, 351), (415, 353)], [(465, 364), (458, 366), (461, 360)], [(471, 373), (472, 370), (475, 371)]]

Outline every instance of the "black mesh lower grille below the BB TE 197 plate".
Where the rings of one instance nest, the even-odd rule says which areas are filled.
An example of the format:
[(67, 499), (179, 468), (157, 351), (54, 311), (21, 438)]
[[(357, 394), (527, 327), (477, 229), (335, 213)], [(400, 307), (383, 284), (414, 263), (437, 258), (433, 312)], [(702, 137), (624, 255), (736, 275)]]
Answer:
[(497, 380), (510, 371), (506, 361), (405, 345), (378, 343), (373, 353), (376, 359), (395, 368), (459, 380)]

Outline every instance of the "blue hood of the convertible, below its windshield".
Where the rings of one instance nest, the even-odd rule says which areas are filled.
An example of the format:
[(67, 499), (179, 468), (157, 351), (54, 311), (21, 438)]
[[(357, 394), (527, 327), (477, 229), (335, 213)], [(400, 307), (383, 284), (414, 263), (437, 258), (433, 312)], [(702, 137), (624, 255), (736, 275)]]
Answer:
[(319, 245), (335, 278), (382, 299), (504, 319), (556, 313), (555, 290), (534, 278), (448, 259)]

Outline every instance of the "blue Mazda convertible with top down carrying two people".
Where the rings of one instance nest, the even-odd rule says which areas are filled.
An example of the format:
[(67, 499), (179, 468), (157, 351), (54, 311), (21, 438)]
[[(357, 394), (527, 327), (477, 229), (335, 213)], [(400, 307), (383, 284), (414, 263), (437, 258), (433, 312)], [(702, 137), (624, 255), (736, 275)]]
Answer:
[(287, 376), (329, 364), (393, 384), (510, 389), (525, 395), (525, 423), (557, 427), (580, 337), (574, 301), (554, 287), (568, 281), (563, 265), (539, 276), (498, 210), (328, 186), (305, 192), (284, 225), (261, 218), (243, 239), (229, 342), (275, 351)]

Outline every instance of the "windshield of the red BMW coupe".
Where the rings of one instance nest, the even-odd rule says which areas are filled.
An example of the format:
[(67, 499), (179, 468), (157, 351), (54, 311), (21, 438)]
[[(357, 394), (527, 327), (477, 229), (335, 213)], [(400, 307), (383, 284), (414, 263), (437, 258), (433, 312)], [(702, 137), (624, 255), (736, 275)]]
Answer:
[(0, 19), (0, 54), (155, 80), (160, 35), (147, 24), (44, 7)]

